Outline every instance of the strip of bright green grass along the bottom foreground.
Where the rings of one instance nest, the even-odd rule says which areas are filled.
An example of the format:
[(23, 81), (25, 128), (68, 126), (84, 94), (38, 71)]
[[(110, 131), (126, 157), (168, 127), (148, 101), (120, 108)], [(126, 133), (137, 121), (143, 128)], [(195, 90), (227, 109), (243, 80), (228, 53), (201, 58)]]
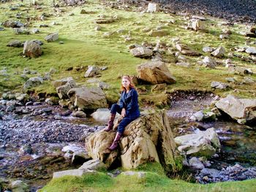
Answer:
[(42, 188), (42, 192), (50, 191), (255, 191), (256, 180), (239, 182), (224, 182), (208, 185), (187, 183), (183, 180), (170, 180), (168, 177), (156, 172), (146, 172), (146, 177), (118, 175), (112, 178), (107, 174), (87, 174), (83, 177), (65, 176), (51, 180)]

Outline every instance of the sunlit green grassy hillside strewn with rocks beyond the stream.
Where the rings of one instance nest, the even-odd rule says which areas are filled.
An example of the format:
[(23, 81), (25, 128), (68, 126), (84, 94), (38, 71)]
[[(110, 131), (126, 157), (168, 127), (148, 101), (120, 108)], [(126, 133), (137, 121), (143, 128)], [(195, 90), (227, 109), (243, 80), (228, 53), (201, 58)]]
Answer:
[[(218, 47), (222, 45), (225, 47), (227, 53), (233, 53), (234, 47), (238, 45), (244, 45), (248, 39), (238, 34), (239, 31), (244, 31), (245, 25), (235, 24), (232, 27), (222, 26), (219, 23), (222, 21), (212, 18), (205, 22), (208, 32), (204, 31), (191, 31), (184, 29), (187, 19), (185, 17), (177, 15), (169, 15), (163, 12), (155, 14), (134, 12), (131, 8), (130, 11), (111, 9), (99, 4), (99, 1), (88, 1), (82, 7), (60, 7), (63, 11), (57, 13), (51, 6), (52, 1), (40, 1), (39, 7), (41, 9), (35, 9), (34, 6), (29, 5), (30, 1), (22, 2), (22, 6), (17, 10), (11, 11), (10, 7), (15, 7), (20, 4), (20, 1), (11, 1), (9, 3), (1, 4), (0, 22), (5, 20), (18, 20), (15, 18), (17, 12), (21, 13), (20, 21), (26, 23), (26, 18), (31, 18), (29, 28), (39, 28), (40, 24), (48, 24), (48, 28), (39, 28), (39, 34), (20, 34), (15, 35), (12, 28), (5, 28), (4, 31), (0, 31), (0, 69), (7, 68), (9, 77), (1, 76), (0, 79), (0, 91), (15, 91), (19, 92), (22, 88), (23, 80), (20, 74), (23, 69), (29, 67), (31, 70), (36, 70), (39, 74), (49, 72), (50, 68), (58, 70), (53, 75), (52, 80), (59, 79), (61, 77), (72, 76), (80, 85), (86, 85), (86, 79), (83, 74), (86, 72), (87, 66), (108, 66), (108, 69), (102, 71), (102, 76), (99, 80), (105, 81), (111, 85), (110, 91), (113, 98), (117, 94), (117, 88), (119, 87), (119, 78), (122, 74), (137, 74), (136, 66), (143, 62), (145, 59), (134, 58), (129, 53), (129, 45), (141, 44), (142, 42), (156, 43), (158, 40), (165, 42), (170, 47), (173, 46), (172, 39), (180, 38), (181, 42), (189, 45), (195, 50), (203, 53), (202, 48), (204, 46)], [(85, 9), (88, 14), (80, 14), (81, 9)], [(44, 13), (48, 17), (45, 20), (39, 20), (40, 16)], [(70, 16), (71, 13), (74, 15)], [(117, 16), (118, 20), (114, 23), (108, 24), (96, 24), (95, 19), (100, 17), (111, 18)], [(175, 23), (170, 23), (170, 20), (175, 20)], [(57, 25), (53, 25), (55, 22)], [(96, 26), (101, 26), (100, 31), (95, 31)], [(155, 29), (161, 27), (163, 30), (167, 30), (169, 35), (165, 37), (151, 37), (148, 33), (143, 32), (145, 28)], [(220, 40), (219, 34), (222, 29), (230, 29), (233, 34), (230, 35), (230, 39)], [(119, 30), (119, 31), (118, 31)], [(56, 42), (45, 42), (43, 38), (52, 32), (59, 32), (59, 40)], [(105, 33), (110, 34), (105, 35)], [(132, 40), (127, 42), (124, 37), (130, 34)], [(22, 48), (7, 47), (7, 43), (13, 39), (25, 41), (27, 39), (39, 39), (44, 42), (42, 45), (44, 54), (39, 58), (24, 58)], [(59, 41), (64, 42), (60, 45)], [(175, 51), (175, 48), (173, 47)], [(226, 53), (226, 55), (227, 55)], [(239, 53), (246, 55), (246, 53)], [(203, 53), (203, 55), (209, 55)], [(248, 56), (248, 55), (246, 55)], [(198, 89), (206, 91), (211, 90), (211, 81), (226, 82), (225, 77), (236, 77), (238, 81), (241, 81), (243, 77), (234, 75), (225, 69), (225, 65), (217, 66), (217, 69), (206, 69), (203, 66), (197, 64), (197, 61), (201, 61), (199, 57), (187, 56), (187, 62), (192, 64), (192, 68), (184, 68), (176, 66), (174, 64), (175, 57), (172, 54), (166, 53), (164, 58), (167, 62), (167, 66), (170, 72), (177, 79), (177, 83), (174, 85), (168, 85), (167, 91), (184, 89)], [(219, 60), (224, 64), (226, 58)], [(237, 66), (245, 66), (256, 71), (255, 64), (242, 61), (241, 58), (233, 58), (233, 63)], [(72, 67), (72, 68), (71, 68)], [(75, 68), (81, 67), (81, 70), (77, 71)], [(68, 70), (69, 69), (69, 70)], [(70, 70), (71, 69), (71, 70)], [(34, 75), (28, 75), (32, 77)], [(252, 76), (256, 80), (255, 75)], [(254, 97), (256, 85), (244, 85), (233, 84), (232, 88), (226, 91), (215, 91), (222, 96), (228, 93), (236, 94), (243, 97)], [(148, 92), (146, 95), (150, 95), (155, 101), (164, 100), (161, 94), (150, 93), (151, 86), (144, 87)], [(236, 90), (236, 91), (234, 91)], [(35, 93), (46, 93), (52, 95), (56, 93), (50, 81), (45, 81), (42, 85), (34, 88)], [(110, 96), (111, 97), (111, 96)], [(113, 99), (112, 97), (110, 98)], [(142, 99), (148, 101), (147, 96), (141, 96)], [(154, 103), (154, 102), (153, 102)]]

